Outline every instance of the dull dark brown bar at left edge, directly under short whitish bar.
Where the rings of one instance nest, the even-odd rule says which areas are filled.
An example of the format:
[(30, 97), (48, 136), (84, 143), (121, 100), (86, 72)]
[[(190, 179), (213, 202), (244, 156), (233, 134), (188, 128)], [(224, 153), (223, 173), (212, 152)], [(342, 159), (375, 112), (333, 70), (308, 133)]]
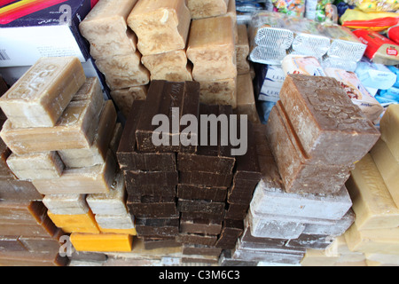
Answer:
[(0, 178), (0, 201), (42, 201), (43, 195), (37, 191), (31, 182)]

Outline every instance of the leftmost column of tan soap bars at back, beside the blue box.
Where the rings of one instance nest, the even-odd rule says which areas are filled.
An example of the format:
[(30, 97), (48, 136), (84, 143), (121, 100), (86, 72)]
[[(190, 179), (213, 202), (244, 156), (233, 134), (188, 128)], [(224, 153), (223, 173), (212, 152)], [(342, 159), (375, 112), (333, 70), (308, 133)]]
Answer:
[[(127, 24), (136, 4), (137, 0), (100, 1), (79, 26), (82, 36), (90, 42), (90, 54), (96, 59), (98, 69), (106, 76), (113, 100), (122, 111), (128, 109), (127, 112), (131, 100), (137, 99), (137, 92), (140, 99), (145, 98), (145, 89), (139, 87), (150, 80), (137, 51), (137, 36)], [(121, 99), (121, 93), (126, 99)]]

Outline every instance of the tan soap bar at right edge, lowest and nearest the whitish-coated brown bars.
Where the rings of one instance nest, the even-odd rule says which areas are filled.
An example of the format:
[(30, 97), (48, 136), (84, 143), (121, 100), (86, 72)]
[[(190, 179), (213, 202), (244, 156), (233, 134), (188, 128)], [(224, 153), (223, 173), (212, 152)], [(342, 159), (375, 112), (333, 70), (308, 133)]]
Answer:
[(347, 187), (359, 230), (390, 229), (399, 225), (399, 209), (370, 154), (356, 163)]

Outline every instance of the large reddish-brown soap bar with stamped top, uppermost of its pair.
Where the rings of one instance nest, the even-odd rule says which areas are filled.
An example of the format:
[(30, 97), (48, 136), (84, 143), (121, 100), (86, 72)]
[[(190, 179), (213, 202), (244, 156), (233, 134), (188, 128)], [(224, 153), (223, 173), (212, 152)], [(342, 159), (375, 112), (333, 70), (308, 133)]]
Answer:
[(379, 130), (333, 78), (288, 75), (280, 99), (312, 163), (348, 166), (379, 139)]

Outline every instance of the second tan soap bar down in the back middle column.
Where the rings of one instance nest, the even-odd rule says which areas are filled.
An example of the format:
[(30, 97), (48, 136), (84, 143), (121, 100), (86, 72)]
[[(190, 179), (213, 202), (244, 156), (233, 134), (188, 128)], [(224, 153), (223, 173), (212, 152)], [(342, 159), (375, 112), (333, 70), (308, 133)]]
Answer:
[(185, 50), (145, 55), (141, 58), (144, 66), (150, 70), (151, 80), (170, 82), (192, 81), (190, 67)]

